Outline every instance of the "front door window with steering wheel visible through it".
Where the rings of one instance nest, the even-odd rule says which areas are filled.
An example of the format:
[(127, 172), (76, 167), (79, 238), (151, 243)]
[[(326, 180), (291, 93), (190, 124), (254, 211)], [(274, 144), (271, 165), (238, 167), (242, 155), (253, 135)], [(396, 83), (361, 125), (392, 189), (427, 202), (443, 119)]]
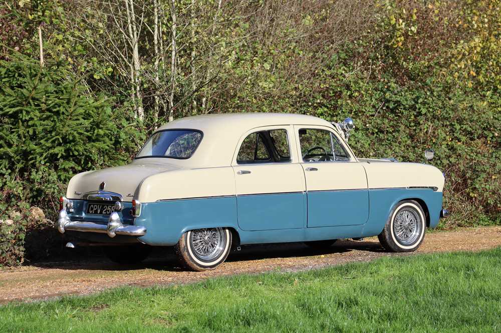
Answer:
[(299, 130), (301, 155), (305, 162), (348, 160), (348, 154), (337, 137), (330, 131), (318, 128)]

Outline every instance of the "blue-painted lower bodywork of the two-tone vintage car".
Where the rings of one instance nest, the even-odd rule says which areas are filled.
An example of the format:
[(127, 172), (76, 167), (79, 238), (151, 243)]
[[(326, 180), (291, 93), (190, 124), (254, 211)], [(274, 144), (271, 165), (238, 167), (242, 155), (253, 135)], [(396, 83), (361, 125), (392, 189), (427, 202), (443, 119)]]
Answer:
[[(147, 232), (144, 236), (139, 237), (140, 241), (149, 245), (165, 246), (174, 245), (179, 237), (188, 230), (216, 226), (233, 228), (238, 232), (241, 244), (374, 236), (382, 231), (392, 207), (398, 201), (417, 199), (423, 202), (429, 211), (430, 227), (435, 227), (438, 224), (442, 208), (442, 192), (433, 191), (431, 188), (369, 189), (368, 212), (363, 208), (357, 211), (356, 202), (348, 207), (336, 205), (338, 195), (353, 196), (353, 200), (355, 200), (356, 196), (364, 191), (336, 191), (334, 195), (333, 191), (325, 191), (326, 197), (322, 198), (324, 200), (322, 209), (318, 209), (314, 213), (318, 214), (318, 217), (322, 217), (320, 214), (324, 214), (325, 219), (330, 221), (326, 223), (330, 223), (330, 225), (307, 225), (308, 195), (318, 196), (320, 193), (274, 193), (148, 202), (142, 204), (141, 215), (133, 221), (130, 216), (131, 203), (124, 202), (125, 208), (119, 215), (125, 224), (133, 222), (135, 225), (146, 227)], [(238, 212), (237, 200), (241, 200), (240, 209), (244, 209), (240, 213)], [(260, 210), (262, 200), (268, 200), (268, 203), (269, 200), (277, 202), (277, 208), (275, 210), (270, 208), (265, 211)], [(285, 207), (289, 207), (287, 204), (284, 206), (283, 203), (280, 203), (284, 200), (294, 202), (292, 211), (284, 210)], [(329, 201), (332, 202), (331, 209), (327, 204)], [(74, 200), (74, 202), (74, 212), (69, 214), (70, 219), (99, 223), (108, 221), (108, 216), (105, 215), (86, 214), (88, 204), (86, 200)], [(310, 209), (312, 209), (311, 206)], [(269, 218), (260, 219), (263, 213), (268, 214)], [(335, 224), (336, 221), (341, 220), (343, 223), (349, 223), (352, 214), (359, 217), (368, 214), (368, 219), (362, 224)]]

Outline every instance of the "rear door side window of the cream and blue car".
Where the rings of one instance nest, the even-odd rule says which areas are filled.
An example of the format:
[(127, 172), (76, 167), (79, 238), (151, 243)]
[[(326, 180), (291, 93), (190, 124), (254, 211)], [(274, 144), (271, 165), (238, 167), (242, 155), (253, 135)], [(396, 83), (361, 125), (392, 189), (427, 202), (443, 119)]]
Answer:
[(243, 139), (236, 161), (238, 164), (290, 162), (290, 151), (287, 130), (261, 130)]

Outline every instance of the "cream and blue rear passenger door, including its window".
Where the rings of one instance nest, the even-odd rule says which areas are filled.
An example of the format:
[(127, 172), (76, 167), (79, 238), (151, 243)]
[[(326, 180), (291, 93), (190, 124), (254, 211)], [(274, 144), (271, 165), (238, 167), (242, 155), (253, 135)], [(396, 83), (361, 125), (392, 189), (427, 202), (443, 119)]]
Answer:
[(292, 126), (261, 128), (247, 133), (239, 145), (233, 170), (243, 230), (305, 226), (305, 177), (297, 156), (291, 156), (288, 129)]

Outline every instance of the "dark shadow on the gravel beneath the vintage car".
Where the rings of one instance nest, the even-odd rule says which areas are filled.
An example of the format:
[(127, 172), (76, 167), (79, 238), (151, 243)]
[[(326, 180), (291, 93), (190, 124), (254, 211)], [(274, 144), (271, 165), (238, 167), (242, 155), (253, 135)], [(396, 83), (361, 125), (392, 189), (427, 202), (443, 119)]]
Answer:
[[(333, 245), (313, 249), (303, 242), (272, 243), (242, 245), (241, 249), (232, 250), (226, 259), (227, 262), (252, 261), (273, 258), (295, 258), (316, 256), (322, 254), (347, 253), (351, 251), (384, 252), (377, 241), (355, 241), (340, 239)], [(117, 264), (103, 255), (100, 248), (73, 248), (68, 249), (71, 260), (41, 261), (31, 265), (40, 268), (83, 269), (83, 270), (141, 270), (153, 269), (164, 271), (186, 271), (177, 261), (173, 247), (157, 247), (144, 262), (139, 264)], [(127, 255), (127, 253), (124, 253)]]

